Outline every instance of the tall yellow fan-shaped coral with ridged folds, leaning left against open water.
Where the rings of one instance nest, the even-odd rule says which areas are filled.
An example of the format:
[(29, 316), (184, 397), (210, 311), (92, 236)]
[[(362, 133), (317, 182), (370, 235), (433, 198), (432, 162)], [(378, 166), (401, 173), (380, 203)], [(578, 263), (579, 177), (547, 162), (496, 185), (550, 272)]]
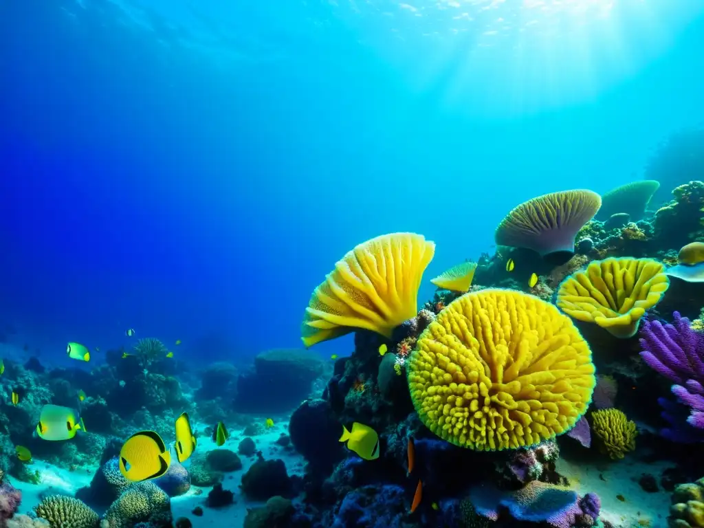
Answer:
[(365, 328), (391, 337), (417, 314), (417, 296), (435, 244), (420, 234), (394, 233), (368, 240), (335, 264), (308, 301), (303, 344), (312, 346)]

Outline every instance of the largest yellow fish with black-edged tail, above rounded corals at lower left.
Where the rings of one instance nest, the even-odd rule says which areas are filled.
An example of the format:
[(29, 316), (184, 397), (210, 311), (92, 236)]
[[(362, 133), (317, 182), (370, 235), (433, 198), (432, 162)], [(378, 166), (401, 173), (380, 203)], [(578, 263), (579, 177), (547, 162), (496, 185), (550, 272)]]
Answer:
[(153, 431), (134, 433), (120, 449), (120, 472), (132, 482), (161, 477), (170, 465), (171, 453)]

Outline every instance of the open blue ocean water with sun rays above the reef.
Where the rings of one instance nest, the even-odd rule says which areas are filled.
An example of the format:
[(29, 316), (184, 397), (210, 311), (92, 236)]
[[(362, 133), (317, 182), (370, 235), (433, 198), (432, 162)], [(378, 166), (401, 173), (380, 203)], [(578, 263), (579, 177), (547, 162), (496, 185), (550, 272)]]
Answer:
[(187, 361), (298, 346), (355, 244), (422, 233), (432, 277), (520, 201), (640, 178), (704, 118), (703, 27), (698, 0), (3, 0), (0, 320), (43, 360), (130, 327)]

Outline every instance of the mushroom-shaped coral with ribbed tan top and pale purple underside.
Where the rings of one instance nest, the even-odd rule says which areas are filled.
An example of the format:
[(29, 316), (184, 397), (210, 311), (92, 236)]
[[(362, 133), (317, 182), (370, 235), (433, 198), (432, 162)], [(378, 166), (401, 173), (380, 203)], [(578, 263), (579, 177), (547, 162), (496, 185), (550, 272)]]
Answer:
[(496, 244), (532, 249), (564, 263), (577, 232), (596, 215), (601, 197), (584, 189), (544, 194), (521, 203), (496, 228)]

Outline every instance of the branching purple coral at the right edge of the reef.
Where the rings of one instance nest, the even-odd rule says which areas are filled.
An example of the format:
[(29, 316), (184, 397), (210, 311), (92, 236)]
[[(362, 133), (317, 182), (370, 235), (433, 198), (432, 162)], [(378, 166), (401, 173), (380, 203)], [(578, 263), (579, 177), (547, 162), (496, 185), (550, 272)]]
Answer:
[[(641, 357), (655, 372), (674, 382), (672, 394), (689, 408), (687, 425), (704, 429), (704, 334), (693, 330), (689, 320), (678, 312), (672, 316), (672, 325), (662, 325), (657, 320), (645, 322), (641, 329)], [(676, 427), (684, 427), (672, 420), (673, 410), (665, 404), (663, 417)], [(677, 438), (679, 432), (670, 436)]]

